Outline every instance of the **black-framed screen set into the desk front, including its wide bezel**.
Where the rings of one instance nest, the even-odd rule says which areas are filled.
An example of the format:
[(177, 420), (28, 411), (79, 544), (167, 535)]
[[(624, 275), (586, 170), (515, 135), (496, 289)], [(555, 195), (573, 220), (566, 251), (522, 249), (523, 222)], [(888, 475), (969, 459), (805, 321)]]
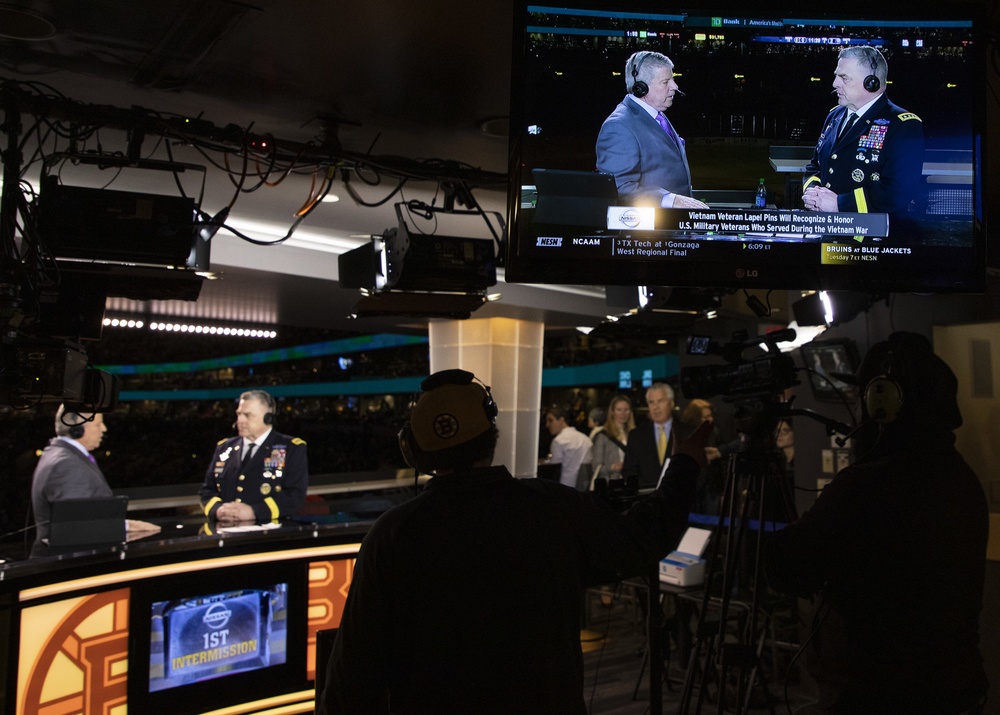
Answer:
[(306, 571), (279, 562), (179, 574), (133, 589), (128, 703), (143, 713), (207, 711), (295, 692), (306, 681)]

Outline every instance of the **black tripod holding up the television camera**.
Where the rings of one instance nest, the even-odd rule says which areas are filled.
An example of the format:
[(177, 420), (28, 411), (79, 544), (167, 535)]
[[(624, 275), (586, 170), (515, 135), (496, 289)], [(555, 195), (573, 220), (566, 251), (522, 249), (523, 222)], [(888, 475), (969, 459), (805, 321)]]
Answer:
[[(761, 668), (761, 652), (770, 625), (768, 616), (762, 617), (760, 603), (761, 549), (765, 518), (781, 514), (787, 520), (794, 515), (791, 491), (774, 446), (780, 416), (786, 414), (784, 408), (782, 403), (751, 403), (738, 411), (741, 448), (729, 457), (722, 517), (713, 529), (712, 554), (706, 566), (681, 715), (691, 712), (696, 678), (700, 678), (700, 687), (694, 712), (702, 712), (712, 677), (718, 678), (718, 712), (725, 712), (732, 671), (736, 672), (737, 713), (748, 711), (755, 686), (763, 691), (770, 712), (775, 713), (774, 698)], [(776, 506), (772, 507), (771, 501)], [(713, 599), (719, 577), (721, 590)], [(735, 642), (729, 627), (733, 620), (737, 625)]]

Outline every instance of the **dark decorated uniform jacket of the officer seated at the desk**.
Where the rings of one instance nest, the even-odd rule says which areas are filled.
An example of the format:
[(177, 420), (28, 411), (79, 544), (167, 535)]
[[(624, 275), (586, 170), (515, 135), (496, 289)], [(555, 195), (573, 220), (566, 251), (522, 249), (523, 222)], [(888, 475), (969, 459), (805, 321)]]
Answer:
[(249, 505), (258, 524), (294, 516), (309, 487), (305, 440), (272, 431), (245, 468), (242, 462), (242, 437), (216, 446), (200, 492), (205, 516), (233, 501)]

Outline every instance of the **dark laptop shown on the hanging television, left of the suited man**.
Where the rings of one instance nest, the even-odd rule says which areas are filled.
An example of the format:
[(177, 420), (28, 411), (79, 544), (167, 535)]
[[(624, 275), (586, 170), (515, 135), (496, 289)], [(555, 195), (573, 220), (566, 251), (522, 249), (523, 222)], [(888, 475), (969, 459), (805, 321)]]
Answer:
[(607, 228), (608, 207), (618, 203), (612, 174), (565, 169), (533, 169), (535, 222)]

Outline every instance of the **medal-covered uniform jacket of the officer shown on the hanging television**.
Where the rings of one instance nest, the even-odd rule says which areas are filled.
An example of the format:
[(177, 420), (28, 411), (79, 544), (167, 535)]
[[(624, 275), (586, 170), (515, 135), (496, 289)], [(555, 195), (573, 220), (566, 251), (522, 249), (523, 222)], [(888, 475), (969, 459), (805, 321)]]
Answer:
[(802, 188), (825, 186), (837, 194), (841, 211), (889, 214), (891, 237), (893, 217), (906, 216), (920, 187), (922, 122), (883, 95), (837, 138), (849, 113), (838, 106), (827, 115)]

